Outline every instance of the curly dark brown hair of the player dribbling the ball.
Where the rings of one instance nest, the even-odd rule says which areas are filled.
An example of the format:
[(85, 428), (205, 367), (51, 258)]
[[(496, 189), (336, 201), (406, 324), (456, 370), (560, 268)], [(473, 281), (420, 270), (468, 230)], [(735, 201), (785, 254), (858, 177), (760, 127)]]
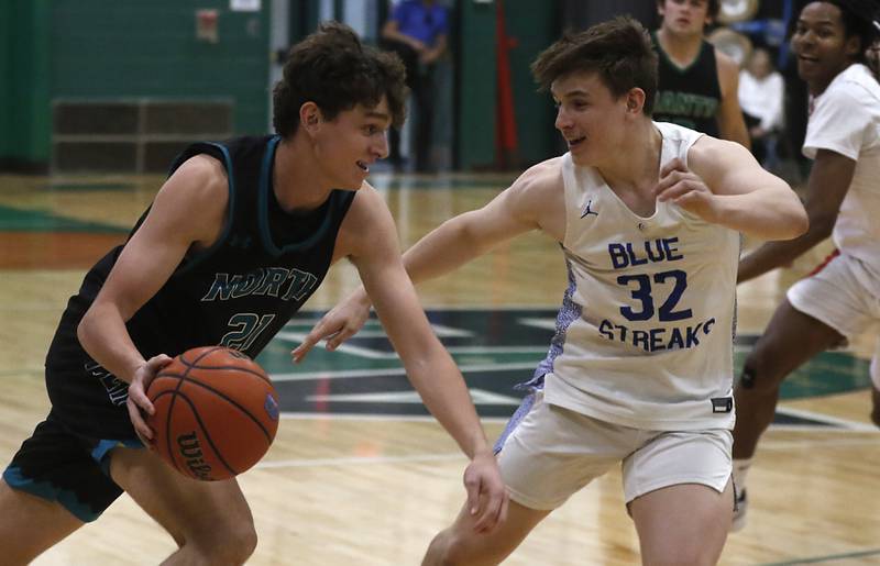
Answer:
[(399, 126), (408, 96), (399, 57), (364, 45), (345, 24), (326, 22), (290, 48), (284, 77), (272, 92), (272, 124), (289, 138), (299, 127), (299, 109), (308, 101), (318, 104), (326, 120), (333, 120), (358, 104), (373, 108), (383, 96), (392, 122)]

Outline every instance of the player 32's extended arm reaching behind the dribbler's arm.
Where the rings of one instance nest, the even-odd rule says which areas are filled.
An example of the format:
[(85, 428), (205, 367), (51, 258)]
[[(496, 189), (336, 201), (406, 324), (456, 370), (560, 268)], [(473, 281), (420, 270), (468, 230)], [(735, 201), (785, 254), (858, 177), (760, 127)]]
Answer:
[[(553, 191), (561, 190), (559, 159), (538, 164), (507, 190), (479, 210), (454, 217), (419, 240), (406, 254), (404, 265), (413, 282), (439, 277), (474, 259), (517, 234), (564, 222), (564, 210), (549, 207)], [(549, 230), (551, 236), (561, 235)], [(363, 287), (323, 315), (290, 354), (301, 362), (320, 341), (333, 351), (356, 334), (370, 315), (371, 300)]]

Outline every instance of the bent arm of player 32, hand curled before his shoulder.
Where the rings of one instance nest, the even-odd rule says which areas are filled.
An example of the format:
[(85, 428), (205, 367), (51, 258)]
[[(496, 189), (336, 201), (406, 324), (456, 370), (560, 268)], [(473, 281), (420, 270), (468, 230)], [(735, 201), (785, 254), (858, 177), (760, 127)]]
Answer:
[(673, 159), (661, 169), (656, 195), (707, 222), (760, 240), (790, 240), (807, 229), (798, 195), (734, 142), (697, 140), (686, 166)]

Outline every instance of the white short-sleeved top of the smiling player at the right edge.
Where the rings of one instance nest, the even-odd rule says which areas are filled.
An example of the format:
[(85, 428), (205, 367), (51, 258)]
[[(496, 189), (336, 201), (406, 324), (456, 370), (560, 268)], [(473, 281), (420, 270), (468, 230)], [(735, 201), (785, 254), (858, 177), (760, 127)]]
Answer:
[(856, 160), (834, 225), (837, 248), (880, 277), (880, 85), (861, 64), (837, 75), (813, 100), (803, 153), (829, 149)]

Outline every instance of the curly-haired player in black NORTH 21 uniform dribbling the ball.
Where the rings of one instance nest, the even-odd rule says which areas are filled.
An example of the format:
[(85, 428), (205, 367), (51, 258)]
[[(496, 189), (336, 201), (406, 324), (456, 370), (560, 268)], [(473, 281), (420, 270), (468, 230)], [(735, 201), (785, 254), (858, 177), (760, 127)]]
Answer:
[(243, 563), (256, 532), (238, 482), (186, 478), (144, 450), (144, 389), (194, 346), (256, 356), (342, 257), (414, 386), (471, 457), (475, 529), (504, 519), (505, 487), (468, 389), (365, 181), (403, 120), (405, 90), (399, 59), (327, 24), (290, 52), (274, 91), (279, 135), (196, 144), (177, 159), (128, 243), (88, 273), (62, 317), (46, 358), (52, 410), (0, 481), (0, 563), (30, 562), (123, 490), (177, 542), (165, 564)]

